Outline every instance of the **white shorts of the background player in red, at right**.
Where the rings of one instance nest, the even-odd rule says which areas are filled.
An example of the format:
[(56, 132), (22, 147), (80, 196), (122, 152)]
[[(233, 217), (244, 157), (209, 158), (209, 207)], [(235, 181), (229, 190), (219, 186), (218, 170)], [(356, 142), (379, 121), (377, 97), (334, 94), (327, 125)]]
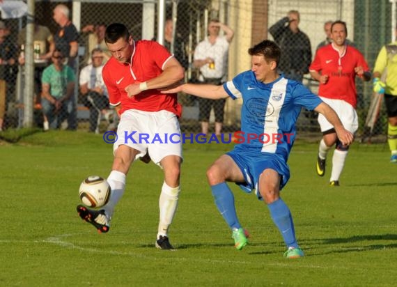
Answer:
[[(359, 118), (355, 108), (352, 107), (351, 104), (345, 102), (344, 100), (335, 100), (324, 97), (320, 98), (323, 102), (328, 104), (329, 107), (332, 107), (332, 109), (336, 111), (336, 114), (341, 119), (343, 127), (345, 127), (346, 130), (352, 133), (357, 131), (359, 128)], [(321, 132), (325, 132), (334, 128), (334, 126), (331, 125), (322, 114), (318, 114), (318, 123), (320, 124)]]

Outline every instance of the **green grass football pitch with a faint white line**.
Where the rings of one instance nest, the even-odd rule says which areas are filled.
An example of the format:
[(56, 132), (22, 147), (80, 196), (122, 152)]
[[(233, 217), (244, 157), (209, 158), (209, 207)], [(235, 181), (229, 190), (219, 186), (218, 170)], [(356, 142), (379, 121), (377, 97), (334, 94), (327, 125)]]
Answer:
[(315, 174), (317, 144), (297, 141), (282, 196), (306, 254), (299, 260), (283, 258), (266, 206), (235, 185), (251, 244), (233, 248), (205, 179), (230, 148), (185, 144), (170, 231), (178, 250), (160, 251), (156, 166), (134, 164), (110, 232), (98, 234), (75, 206), (81, 180), (109, 174), (112, 149), (100, 135), (40, 132), (0, 143), (0, 286), (396, 286), (397, 165), (386, 143), (352, 146), (341, 187), (329, 187), (330, 169)]

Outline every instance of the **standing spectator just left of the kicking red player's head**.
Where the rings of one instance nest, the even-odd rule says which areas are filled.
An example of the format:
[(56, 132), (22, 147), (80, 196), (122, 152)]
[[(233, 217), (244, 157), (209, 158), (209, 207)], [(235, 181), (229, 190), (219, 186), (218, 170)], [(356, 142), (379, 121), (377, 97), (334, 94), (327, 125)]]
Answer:
[(85, 47), (86, 47), (86, 54), (84, 56), (83, 65), (91, 64), (92, 55), (91, 52), (95, 48), (102, 49), (102, 64), (106, 63), (109, 60), (111, 54), (107, 49), (107, 45), (104, 42), (104, 32), (106, 31), (106, 24), (88, 24), (81, 29), (81, 33), (85, 38)]

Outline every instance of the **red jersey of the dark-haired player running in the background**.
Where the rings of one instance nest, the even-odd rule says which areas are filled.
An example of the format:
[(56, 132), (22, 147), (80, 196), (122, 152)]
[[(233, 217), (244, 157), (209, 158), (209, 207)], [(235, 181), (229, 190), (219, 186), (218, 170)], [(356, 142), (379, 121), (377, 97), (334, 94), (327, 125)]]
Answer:
[(328, 75), (328, 82), (320, 83), (318, 95), (324, 98), (344, 100), (356, 108), (357, 93), (355, 85), (355, 68), (361, 66), (369, 70), (364, 56), (355, 47), (346, 46), (345, 52), (339, 52), (333, 44), (318, 49), (309, 70)]

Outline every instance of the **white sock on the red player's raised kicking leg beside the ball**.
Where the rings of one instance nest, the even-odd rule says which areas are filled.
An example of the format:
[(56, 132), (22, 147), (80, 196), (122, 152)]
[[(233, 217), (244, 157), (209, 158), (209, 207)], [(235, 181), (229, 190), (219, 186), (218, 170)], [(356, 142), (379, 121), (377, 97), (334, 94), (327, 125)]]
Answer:
[(111, 194), (109, 202), (104, 205), (104, 211), (106, 212), (107, 216), (111, 217), (114, 212), (114, 207), (124, 194), (125, 174), (120, 171), (111, 171), (109, 177), (107, 178), (107, 182), (110, 185)]

